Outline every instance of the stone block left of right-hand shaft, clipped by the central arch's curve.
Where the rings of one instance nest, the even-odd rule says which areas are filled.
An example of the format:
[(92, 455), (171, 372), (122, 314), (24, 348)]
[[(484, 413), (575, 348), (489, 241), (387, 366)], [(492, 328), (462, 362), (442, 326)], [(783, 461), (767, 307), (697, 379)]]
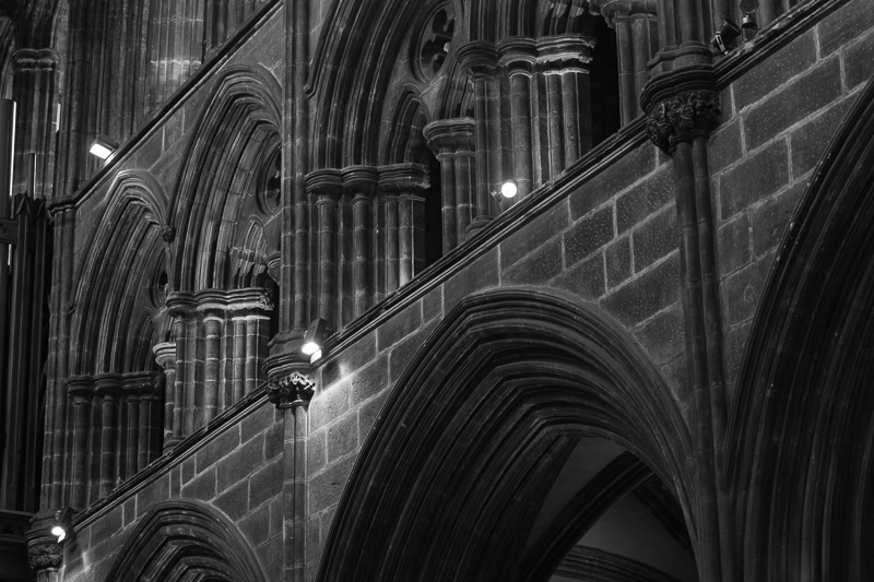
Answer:
[(601, 306), (619, 322), (634, 326), (680, 300), (680, 256), (645, 271), (612, 290)]

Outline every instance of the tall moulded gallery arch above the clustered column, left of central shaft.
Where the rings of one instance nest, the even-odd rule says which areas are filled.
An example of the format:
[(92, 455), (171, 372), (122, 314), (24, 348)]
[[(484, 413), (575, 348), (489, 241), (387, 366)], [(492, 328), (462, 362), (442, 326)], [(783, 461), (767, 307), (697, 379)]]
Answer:
[[(173, 210), (177, 236), (172, 286), (226, 288), (236, 225), (257, 170), (279, 150), (282, 91), (261, 68), (224, 71), (194, 133)], [(252, 201), (252, 206), (255, 202)]]

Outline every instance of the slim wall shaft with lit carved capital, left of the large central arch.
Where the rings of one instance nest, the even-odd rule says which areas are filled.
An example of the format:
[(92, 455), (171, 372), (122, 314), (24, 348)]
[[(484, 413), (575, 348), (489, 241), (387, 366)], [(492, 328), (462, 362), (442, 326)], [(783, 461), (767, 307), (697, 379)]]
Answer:
[(283, 547), (284, 580), (306, 580), (307, 449), (309, 401), (316, 382), (307, 369), (271, 380), (268, 399), (283, 414)]

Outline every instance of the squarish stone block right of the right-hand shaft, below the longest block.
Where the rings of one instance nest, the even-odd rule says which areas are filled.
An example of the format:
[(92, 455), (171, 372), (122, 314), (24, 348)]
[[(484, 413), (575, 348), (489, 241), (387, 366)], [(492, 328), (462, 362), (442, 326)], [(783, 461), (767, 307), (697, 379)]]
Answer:
[(720, 177), (719, 203), (722, 219), (729, 219), (788, 182), (789, 151), (786, 140), (778, 140)]

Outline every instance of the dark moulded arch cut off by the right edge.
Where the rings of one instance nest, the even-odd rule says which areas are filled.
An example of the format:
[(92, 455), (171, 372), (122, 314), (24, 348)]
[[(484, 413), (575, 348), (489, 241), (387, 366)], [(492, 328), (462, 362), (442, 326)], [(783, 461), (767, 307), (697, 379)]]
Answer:
[(745, 580), (874, 575), (874, 84), (829, 144), (759, 304), (727, 459)]

